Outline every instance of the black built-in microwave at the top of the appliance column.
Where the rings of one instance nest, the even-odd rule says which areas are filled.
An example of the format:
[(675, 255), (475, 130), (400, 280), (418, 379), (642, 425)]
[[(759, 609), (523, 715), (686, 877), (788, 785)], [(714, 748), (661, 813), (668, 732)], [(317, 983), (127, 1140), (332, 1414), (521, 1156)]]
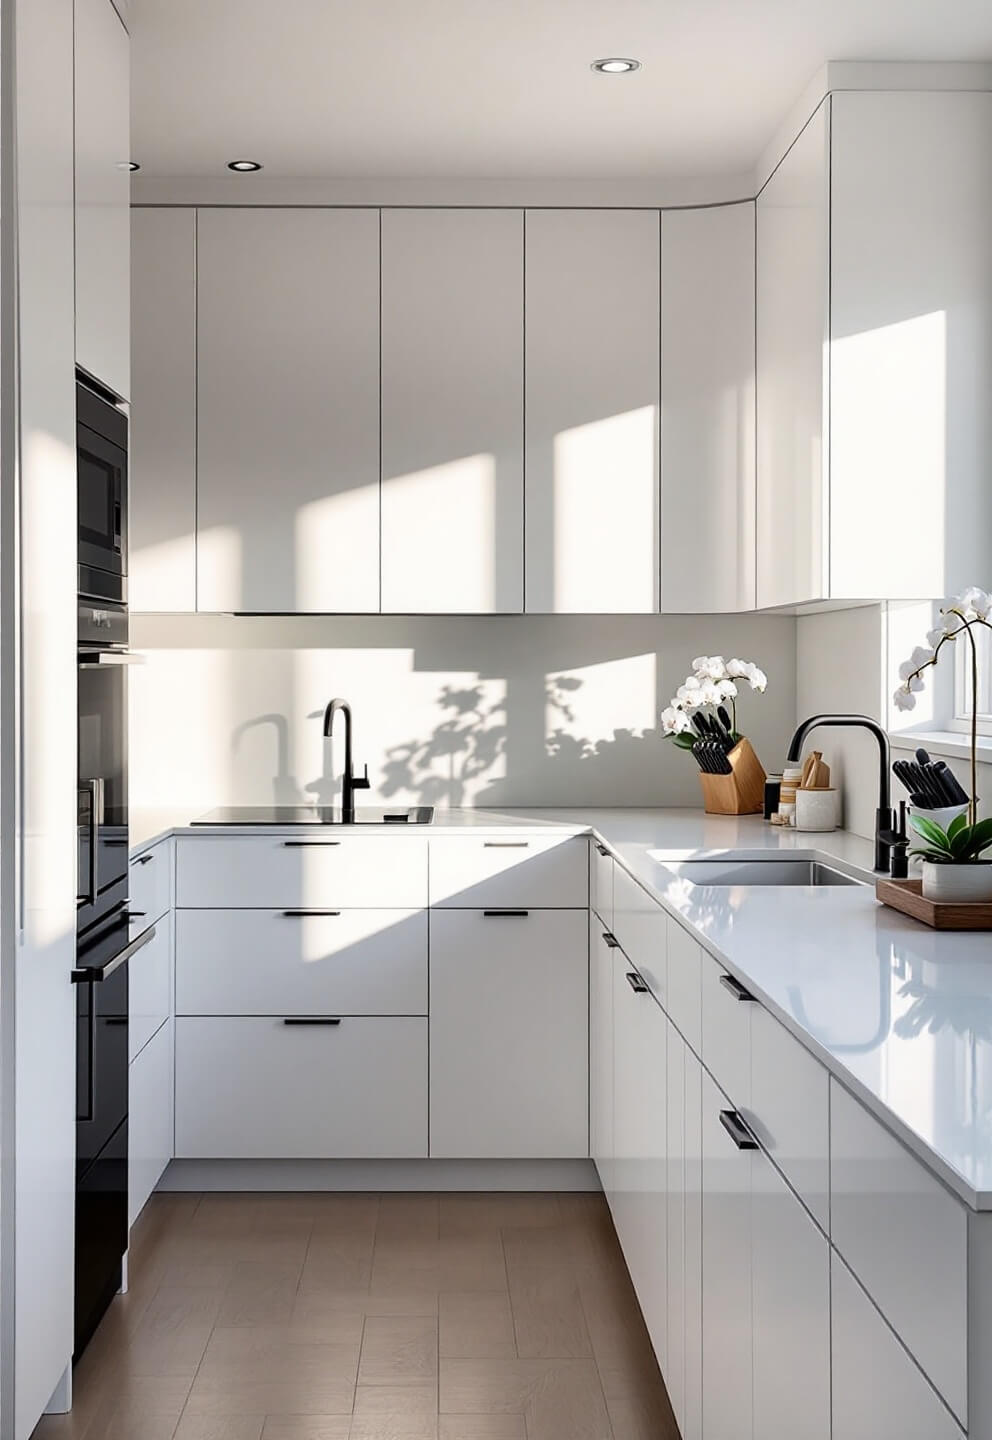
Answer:
[(127, 600), (128, 422), (108, 392), (76, 380), (79, 593)]

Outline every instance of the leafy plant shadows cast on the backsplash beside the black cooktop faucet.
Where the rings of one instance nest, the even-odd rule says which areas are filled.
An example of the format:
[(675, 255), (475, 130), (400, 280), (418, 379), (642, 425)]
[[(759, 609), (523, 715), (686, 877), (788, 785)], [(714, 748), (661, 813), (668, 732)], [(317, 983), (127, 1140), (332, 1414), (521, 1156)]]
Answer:
[[(549, 791), (557, 791), (554, 772), (563, 776), (563, 789), (574, 780), (576, 766), (595, 763), (599, 770), (631, 775), (631, 766), (657, 763), (657, 729), (636, 733), (615, 730), (609, 740), (590, 740), (574, 734), (572, 696), (582, 688), (574, 675), (549, 675), (544, 681), (544, 706), (557, 724), (546, 730), (544, 749)], [(507, 804), (507, 782), (500, 772), (507, 755), (507, 700), (491, 700), (482, 685), (442, 685), (438, 707), (443, 711), (433, 732), (425, 739), (405, 740), (386, 753), (380, 789), (384, 796), (413, 795), (420, 805), (500, 805)], [(308, 786), (310, 788), (310, 786)], [(515, 804), (520, 804), (517, 801)]]

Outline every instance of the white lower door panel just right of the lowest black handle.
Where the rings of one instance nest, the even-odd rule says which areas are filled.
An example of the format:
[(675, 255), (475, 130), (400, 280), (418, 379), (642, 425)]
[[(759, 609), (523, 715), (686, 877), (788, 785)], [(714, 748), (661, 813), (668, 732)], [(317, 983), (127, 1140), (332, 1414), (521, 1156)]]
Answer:
[(752, 1168), (752, 1354), (754, 1436), (760, 1440), (831, 1440), (829, 1267), (826, 1236), (757, 1151)]

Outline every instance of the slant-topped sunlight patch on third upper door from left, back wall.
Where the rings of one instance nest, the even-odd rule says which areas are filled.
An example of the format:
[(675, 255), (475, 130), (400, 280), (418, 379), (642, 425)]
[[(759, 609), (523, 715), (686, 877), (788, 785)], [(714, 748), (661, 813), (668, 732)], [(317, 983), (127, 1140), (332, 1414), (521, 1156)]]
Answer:
[[(464, 455), (383, 480), (383, 609), (445, 613), (500, 608), (495, 456)], [(449, 534), (443, 564), (439, 534)], [(518, 528), (504, 537), (520, 547)]]

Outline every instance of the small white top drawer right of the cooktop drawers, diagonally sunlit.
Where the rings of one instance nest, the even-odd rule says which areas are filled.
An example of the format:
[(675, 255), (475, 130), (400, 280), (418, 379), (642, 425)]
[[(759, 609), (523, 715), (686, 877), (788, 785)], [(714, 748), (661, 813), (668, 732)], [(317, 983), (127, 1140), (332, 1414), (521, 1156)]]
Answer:
[(589, 904), (586, 841), (544, 835), (432, 840), (430, 904), (465, 910), (585, 909)]

